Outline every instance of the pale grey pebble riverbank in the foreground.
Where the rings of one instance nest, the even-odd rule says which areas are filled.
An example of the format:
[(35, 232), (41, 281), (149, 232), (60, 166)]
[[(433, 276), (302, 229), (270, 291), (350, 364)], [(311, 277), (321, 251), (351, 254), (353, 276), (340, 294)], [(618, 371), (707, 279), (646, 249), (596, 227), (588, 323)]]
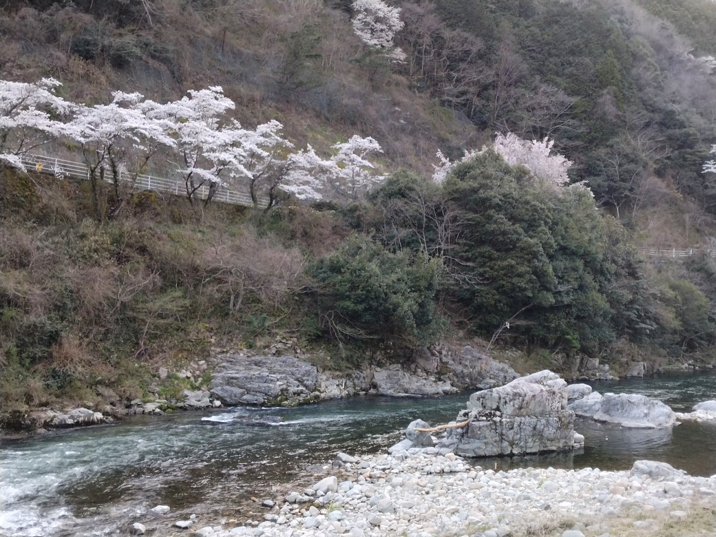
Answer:
[[(404, 451), (362, 458), (339, 454), (339, 460), (344, 468), (313, 487), (264, 500), (263, 520), (225, 520), (221, 526), (207, 526), (198, 519), (176, 521), (173, 534), (203, 537), (716, 534), (716, 475), (692, 477), (666, 463), (637, 461), (631, 471), (621, 472), (592, 468), (495, 472), (473, 467), (452, 453), (442, 456)], [(169, 518), (171, 513), (164, 516)]]

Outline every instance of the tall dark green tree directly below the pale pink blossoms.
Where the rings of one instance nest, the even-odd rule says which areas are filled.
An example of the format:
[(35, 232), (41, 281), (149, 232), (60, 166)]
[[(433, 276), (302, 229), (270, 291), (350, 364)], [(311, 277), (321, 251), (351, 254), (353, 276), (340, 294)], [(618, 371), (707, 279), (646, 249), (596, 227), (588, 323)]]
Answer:
[(524, 307), (554, 302), (553, 215), (526, 183), (525, 170), (490, 151), (458, 166), (445, 185), (465, 223), (456, 270), (466, 273), (468, 284), (456, 292), (480, 330), (497, 329)]

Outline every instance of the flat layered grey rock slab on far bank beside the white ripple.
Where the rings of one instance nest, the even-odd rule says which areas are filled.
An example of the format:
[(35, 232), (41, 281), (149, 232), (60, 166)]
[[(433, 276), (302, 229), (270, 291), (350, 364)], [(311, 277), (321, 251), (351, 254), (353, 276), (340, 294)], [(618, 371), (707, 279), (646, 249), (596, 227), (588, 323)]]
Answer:
[(316, 367), (296, 357), (229, 353), (218, 359), (210, 390), (223, 405), (300, 405), (318, 398)]

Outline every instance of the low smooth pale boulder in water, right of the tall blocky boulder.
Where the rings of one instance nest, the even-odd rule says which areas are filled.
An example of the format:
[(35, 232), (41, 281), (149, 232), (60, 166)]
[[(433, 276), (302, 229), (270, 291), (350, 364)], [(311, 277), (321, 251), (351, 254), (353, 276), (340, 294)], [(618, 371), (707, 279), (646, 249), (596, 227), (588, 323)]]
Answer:
[(646, 395), (608, 393), (601, 398), (594, 419), (622, 427), (654, 428), (671, 427), (676, 415), (667, 405)]

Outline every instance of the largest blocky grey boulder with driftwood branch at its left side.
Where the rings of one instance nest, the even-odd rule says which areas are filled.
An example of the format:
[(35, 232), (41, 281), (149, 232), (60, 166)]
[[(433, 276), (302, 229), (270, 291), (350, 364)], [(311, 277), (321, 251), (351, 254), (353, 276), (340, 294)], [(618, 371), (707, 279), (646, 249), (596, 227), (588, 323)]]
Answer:
[(448, 429), (441, 446), (467, 457), (571, 450), (574, 412), (567, 409), (566, 386), (541, 371), (475, 392), (457, 418), (467, 425)]

